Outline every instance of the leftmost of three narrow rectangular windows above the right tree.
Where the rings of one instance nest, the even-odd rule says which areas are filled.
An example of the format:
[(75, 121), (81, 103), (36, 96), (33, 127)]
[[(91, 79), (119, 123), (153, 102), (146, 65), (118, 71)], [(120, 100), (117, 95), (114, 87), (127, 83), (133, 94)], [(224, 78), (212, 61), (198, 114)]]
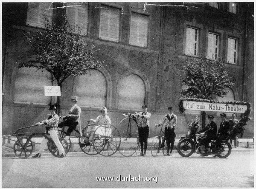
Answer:
[(186, 49), (185, 54), (198, 56), (198, 29), (186, 28)]

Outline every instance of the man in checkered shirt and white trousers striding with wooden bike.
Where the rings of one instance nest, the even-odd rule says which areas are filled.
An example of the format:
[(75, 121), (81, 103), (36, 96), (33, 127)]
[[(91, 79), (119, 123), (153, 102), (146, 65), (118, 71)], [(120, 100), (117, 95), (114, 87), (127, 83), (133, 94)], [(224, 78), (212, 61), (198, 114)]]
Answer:
[[(56, 106), (55, 105), (50, 105), (50, 116), (37, 123), (38, 126), (41, 125), (47, 125), (46, 130), (48, 130), (49, 135), (51, 136), (52, 140), (54, 141), (55, 145), (58, 147), (58, 150), (60, 152), (60, 157), (63, 158), (64, 156), (66, 156), (65, 150), (63, 148), (63, 146), (61, 145), (60, 140), (58, 139), (58, 121), (59, 121), (59, 117), (57, 115), (57, 113), (55, 112), (56, 110)], [(47, 145), (48, 139), (47, 138), (43, 138), (40, 147), (39, 147), (39, 152), (32, 156), (32, 158), (40, 158), (41, 154), (44, 152), (44, 149)]]

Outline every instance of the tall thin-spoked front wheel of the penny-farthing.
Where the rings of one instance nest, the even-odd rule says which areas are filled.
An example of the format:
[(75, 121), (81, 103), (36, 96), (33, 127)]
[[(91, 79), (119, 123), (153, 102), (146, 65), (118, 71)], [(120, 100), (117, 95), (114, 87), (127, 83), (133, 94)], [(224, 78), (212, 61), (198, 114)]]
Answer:
[(136, 152), (137, 147), (137, 124), (132, 118), (124, 118), (119, 123), (121, 130), (121, 144), (119, 152), (123, 156), (131, 156)]

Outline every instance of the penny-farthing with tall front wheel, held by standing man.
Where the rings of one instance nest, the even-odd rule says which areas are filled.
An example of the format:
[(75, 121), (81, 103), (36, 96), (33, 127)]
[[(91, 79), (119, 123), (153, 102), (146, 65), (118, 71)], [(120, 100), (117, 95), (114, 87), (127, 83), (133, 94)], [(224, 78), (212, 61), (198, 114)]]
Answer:
[[(125, 113), (119, 122), (119, 128), (125, 128), (121, 132), (121, 144), (119, 152), (123, 156), (140, 155), (140, 145), (138, 140), (138, 126), (135, 113)], [(134, 145), (134, 143), (136, 143)]]

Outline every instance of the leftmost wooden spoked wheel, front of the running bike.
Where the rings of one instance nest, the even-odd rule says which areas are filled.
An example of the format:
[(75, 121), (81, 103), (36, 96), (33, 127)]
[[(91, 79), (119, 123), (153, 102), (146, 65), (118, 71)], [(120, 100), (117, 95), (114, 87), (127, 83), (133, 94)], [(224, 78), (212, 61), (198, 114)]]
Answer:
[(29, 138), (20, 138), (14, 143), (13, 151), (18, 158), (28, 158), (33, 151), (32, 141)]

